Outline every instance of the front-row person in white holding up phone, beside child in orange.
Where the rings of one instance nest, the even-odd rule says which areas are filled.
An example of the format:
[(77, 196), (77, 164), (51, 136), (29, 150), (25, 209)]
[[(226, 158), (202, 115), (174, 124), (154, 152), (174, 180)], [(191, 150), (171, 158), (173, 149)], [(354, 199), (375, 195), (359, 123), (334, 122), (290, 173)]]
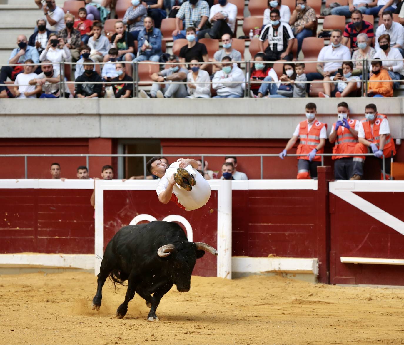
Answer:
[(360, 78), (352, 75), (353, 63), (345, 61), (342, 63), (341, 75), (339, 72), (335, 76), (325, 77), (324, 81), (334, 80), (336, 83), (325, 82), (325, 93), (319, 92), (318, 97), (356, 97), (356, 90), (361, 86)]

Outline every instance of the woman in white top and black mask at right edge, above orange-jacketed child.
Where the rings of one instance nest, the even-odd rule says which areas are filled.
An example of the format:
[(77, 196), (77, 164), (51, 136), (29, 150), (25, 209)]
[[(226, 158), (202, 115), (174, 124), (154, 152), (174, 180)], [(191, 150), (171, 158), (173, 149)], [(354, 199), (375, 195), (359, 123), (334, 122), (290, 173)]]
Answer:
[[(404, 63), (398, 48), (391, 47), (390, 36), (388, 34), (381, 35), (378, 39), (378, 43), (379, 49), (377, 49), (374, 59), (381, 59), (383, 61), (383, 69), (389, 72), (389, 76), (392, 80), (404, 78), (402, 76), (404, 74)], [(393, 86), (394, 88), (398, 88), (399, 83), (395, 82)]]

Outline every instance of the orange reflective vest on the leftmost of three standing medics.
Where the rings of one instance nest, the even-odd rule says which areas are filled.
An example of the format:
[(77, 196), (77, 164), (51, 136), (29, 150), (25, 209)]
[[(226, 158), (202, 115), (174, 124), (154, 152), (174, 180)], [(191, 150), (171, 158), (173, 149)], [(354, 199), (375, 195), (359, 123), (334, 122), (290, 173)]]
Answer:
[[(303, 156), (298, 156), (297, 159), (306, 159), (309, 160), (307, 156), (313, 149), (316, 148), (318, 144), (320, 144), (320, 131), (321, 128), (327, 125), (318, 120), (314, 120), (313, 125), (310, 130), (308, 130), (308, 122), (307, 120), (300, 122), (299, 124), (299, 137), (300, 143), (297, 146), (296, 154), (302, 154)], [(318, 154), (324, 153), (324, 147), (317, 151)], [(314, 157), (314, 161), (321, 162), (321, 157)]]

